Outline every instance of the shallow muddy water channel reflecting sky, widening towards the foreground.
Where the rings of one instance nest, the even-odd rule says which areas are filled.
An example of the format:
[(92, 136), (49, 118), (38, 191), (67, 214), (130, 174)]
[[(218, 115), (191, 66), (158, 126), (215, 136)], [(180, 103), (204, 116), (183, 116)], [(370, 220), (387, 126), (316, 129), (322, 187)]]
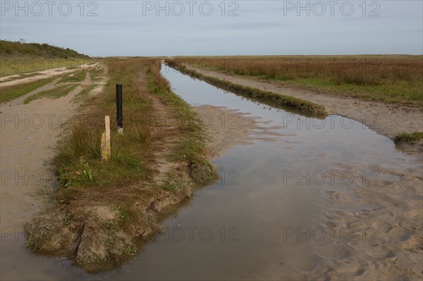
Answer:
[[(214, 163), (221, 180), (196, 192), (162, 220), (165, 232), (142, 245), (123, 268), (89, 275), (66, 260), (20, 249), (2, 261), (10, 278), (56, 280), (262, 280), (298, 277), (325, 259), (348, 256), (355, 229), (333, 228), (338, 208), (358, 212), (357, 187), (399, 180), (388, 169), (415, 166), (415, 157), (355, 120), (305, 118), (249, 101), (163, 65), (173, 92), (192, 106), (248, 113), (261, 127), (250, 144)], [(205, 120), (203, 118), (203, 120)], [(207, 122), (222, 122), (207, 116)], [(205, 122), (205, 121), (204, 121)], [(235, 138), (235, 136), (234, 136)], [(371, 227), (372, 225), (369, 225)], [(342, 230), (342, 231), (341, 231)], [(333, 237), (332, 237), (333, 236)], [(4, 244), (7, 246), (8, 244)], [(4, 250), (4, 249), (2, 249)], [(20, 270), (20, 268), (25, 268)]]

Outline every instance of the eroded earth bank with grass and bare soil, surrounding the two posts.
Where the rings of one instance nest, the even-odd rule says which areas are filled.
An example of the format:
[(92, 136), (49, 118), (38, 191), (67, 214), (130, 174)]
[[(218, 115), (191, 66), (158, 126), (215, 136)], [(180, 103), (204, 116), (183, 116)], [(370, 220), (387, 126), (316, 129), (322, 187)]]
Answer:
[[(159, 65), (147, 72), (139, 60), (106, 63), (109, 82), (102, 94), (87, 99), (85, 111), (68, 124), (59, 143), (59, 190), (51, 206), (25, 227), (32, 251), (68, 256), (86, 270), (116, 266), (132, 256), (137, 238), (159, 230), (161, 208), (216, 178), (195, 113), (171, 92)], [(100, 139), (104, 115), (114, 124), (117, 82), (123, 84), (124, 131), (118, 135), (111, 126), (112, 154), (104, 162)], [(154, 118), (155, 100), (178, 121), (176, 126)], [(159, 156), (171, 167), (161, 181), (154, 168)]]

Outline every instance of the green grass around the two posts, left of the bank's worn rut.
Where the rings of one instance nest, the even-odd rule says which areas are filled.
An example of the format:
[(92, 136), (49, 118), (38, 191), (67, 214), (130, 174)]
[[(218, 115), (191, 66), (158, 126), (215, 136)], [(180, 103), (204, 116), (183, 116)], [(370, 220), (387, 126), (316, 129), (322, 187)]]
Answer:
[[(149, 158), (149, 130), (140, 123), (150, 112), (149, 100), (137, 88), (139, 66), (135, 63), (108, 61), (110, 81), (95, 104), (90, 104), (90, 114), (82, 114), (72, 120), (70, 133), (61, 140), (56, 163), (60, 170), (61, 183), (66, 186), (59, 196), (66, 201), (68, 192), (82, 187), (115, 187), (128, 185), (133, 180), (147, 177), (146, 159)], [(116, 117), (116, 82), (125, 85), (124, 137), (114, 130)], [(90, 85), (78, 94), (87, 95), (95, 85)], [(111, 159), (100, 160), (100, 139), (104, 131), (104, 115), (111, 119)], [(89, 167), (89, 168), (87, 168)], [(83, 170), (94, 175), (86, 180)], [(76, 175), (76, 172), (80, 175)], [(88, 173), (88, 172), (87, 172)]]

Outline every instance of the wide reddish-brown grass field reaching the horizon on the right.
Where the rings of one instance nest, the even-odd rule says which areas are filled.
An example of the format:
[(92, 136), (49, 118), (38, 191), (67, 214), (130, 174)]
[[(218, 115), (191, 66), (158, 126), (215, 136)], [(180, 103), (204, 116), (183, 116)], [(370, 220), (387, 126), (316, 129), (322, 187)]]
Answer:
[(281, 82), (314, 92), (423, 106), (423, 56), (178, 58), (185, 64)]

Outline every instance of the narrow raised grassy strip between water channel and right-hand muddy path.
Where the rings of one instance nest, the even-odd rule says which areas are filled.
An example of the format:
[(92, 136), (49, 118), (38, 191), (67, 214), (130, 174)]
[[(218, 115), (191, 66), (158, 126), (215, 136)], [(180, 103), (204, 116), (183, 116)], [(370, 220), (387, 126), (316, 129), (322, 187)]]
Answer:
[(282, 94), (276, 94), (273, 92), (263, 91), (252, 87), (246, 87), (243, 85), (234, 84), (226, 80), (220, 80), (215, 77), (203, 75), (195, 70), (190, 70), (183, 65), (183, 61), (176, 59), (166, 59), (166, 63), (171, 67), (177, 68), (183, 73), (186, 73), (192, 77), (196, 77), (200, 80), (204, 80), (216, 87), (226, 89), (230, 92), (244, 96), (247, 99), (259, 101), (269, 106), (276, 108), (283, 108), (286, 111), (292, 111), (294, 113), (300, 113), (309, 117), (324, 118), (326, 111), (323, 106), (314, 104), (310, 101), (295, 98), (293, 96), (284, 96)]

